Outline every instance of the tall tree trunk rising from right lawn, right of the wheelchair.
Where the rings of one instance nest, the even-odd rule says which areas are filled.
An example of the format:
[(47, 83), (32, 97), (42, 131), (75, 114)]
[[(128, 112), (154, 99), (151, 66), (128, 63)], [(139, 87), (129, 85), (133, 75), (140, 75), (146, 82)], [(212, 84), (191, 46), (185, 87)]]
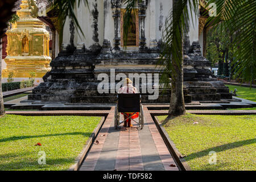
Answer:
[[(178, 6), (181, 6), (182, 1), (173, 1), (173, 7), (174, 7), (174, 15), (175, 18), (175, 8)], [(180, 30), (180, 36), (183, 37), (182, 31), (181, 31), (181, 23), (179, 24), (179, 30)], [(173, 30), (175, 31), (175, 30)], [(170, 101), (170, 108), (168, 111), (168, 116), (171, 115), (182, 115), (186, 113), (185, 110), (185, 102), (184, 102), (184, 96), (183, 96), (183, 40), (178, 44), (178, 54), (179, 54), (179, 61), (172, 61), (172, 66), (175, 68), (176, 73), (172, 72), (171, 77), (171, 101)], [(172, 57), (172, 60), (174, 60), (174, 57)], [(179, 65), (177, 65), (177, 64)]]

